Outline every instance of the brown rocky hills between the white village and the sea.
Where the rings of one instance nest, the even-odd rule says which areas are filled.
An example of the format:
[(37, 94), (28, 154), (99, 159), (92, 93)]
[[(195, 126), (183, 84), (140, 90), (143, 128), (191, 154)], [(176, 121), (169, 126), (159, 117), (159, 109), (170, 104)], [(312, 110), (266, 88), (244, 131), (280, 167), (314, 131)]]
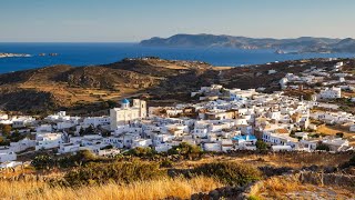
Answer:
[[(335, 62), (315, 59), (224, 68), (199, 61), (143, 58), (90, 67), (53, 66), (0, 74), (0, 109), (31, 113), (106, 110), (112, 102), (133, 96), (148, 99), (149, 103), (176, 103), (190, 101), (190, 92), (211, 83), (241, 89), (263, 87), (272, 92), (280, 89), (278, 80), (287, 72)], [(268, 74), (271, 69), (276, 73)]]

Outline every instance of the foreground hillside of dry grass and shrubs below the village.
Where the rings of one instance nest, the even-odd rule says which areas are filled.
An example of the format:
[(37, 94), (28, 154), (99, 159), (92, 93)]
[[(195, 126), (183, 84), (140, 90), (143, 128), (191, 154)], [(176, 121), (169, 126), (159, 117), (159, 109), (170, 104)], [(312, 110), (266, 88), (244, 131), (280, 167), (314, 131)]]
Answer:
[[(80, 151), (65, 156), (42, 154), (42, 158), (43, 161), (32, 166), (0, 171), (1, 197), (51, 200), (354, 199), (355, 157), (351, 152), (187, 151), (138, 156), (130, 151), (104, 158)], [(49, 159), (62, 161), (54, 163)]]

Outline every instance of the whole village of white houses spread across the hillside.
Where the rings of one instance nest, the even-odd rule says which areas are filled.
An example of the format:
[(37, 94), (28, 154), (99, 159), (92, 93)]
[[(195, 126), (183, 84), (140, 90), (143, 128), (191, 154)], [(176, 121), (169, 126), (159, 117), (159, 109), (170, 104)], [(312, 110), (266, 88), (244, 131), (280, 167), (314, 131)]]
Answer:
[[(0, 168), (22, 164), (18, 157), (48, 150), (57, 154), (89, 150), (112, 157), (134, 148), (166, 152), (182, 142), (225, 153), (261, 149), (349, 151), (355, 117), (333, 101), (344, 98), (344, 91), (355, 90), (355, 81), (347, 80), (353, 74), (342, 71), (344, 64), (287, 73), (280, 80), (280, 91), (273, 93), (264, 93), (265, 88), (241, 90), (212, 84), (191, 93), (195, 103), (148, 107), (144, 100), (123, 99), (110, 116), (73, 117), (59, 111), (36, 119), (0, 112)], [(307, 89), (316, 92), (287, 94)], [(355, 102), (355, 98), (347, 101)], [(342, 127), (354, 137), (342, 131), (320, 133), (324, 126)]]

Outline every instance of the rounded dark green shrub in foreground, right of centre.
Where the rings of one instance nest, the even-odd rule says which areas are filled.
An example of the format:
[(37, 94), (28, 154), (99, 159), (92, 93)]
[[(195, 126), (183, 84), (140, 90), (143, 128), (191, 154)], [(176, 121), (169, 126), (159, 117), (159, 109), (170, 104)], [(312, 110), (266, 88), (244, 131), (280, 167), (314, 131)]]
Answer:
[(262, 173), (255, 167), (235, 162), (212, 162), (196, 167), (193, 174), (213, 177), (230, 186), (244, 186), (260, 180)]

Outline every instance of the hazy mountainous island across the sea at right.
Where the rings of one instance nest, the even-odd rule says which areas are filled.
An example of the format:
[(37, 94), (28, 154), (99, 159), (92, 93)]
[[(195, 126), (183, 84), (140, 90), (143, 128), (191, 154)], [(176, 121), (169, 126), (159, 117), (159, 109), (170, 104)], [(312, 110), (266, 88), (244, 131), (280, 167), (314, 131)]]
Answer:
[(151, 38), (140, 42), (145, 47), (227, 47), (236, 49), (273, 49), (292, 53), (355, 53), (355, 39), (301, 37), (296, 39), (246, 38), (214, 34), (175, 34), (170, 38)]

